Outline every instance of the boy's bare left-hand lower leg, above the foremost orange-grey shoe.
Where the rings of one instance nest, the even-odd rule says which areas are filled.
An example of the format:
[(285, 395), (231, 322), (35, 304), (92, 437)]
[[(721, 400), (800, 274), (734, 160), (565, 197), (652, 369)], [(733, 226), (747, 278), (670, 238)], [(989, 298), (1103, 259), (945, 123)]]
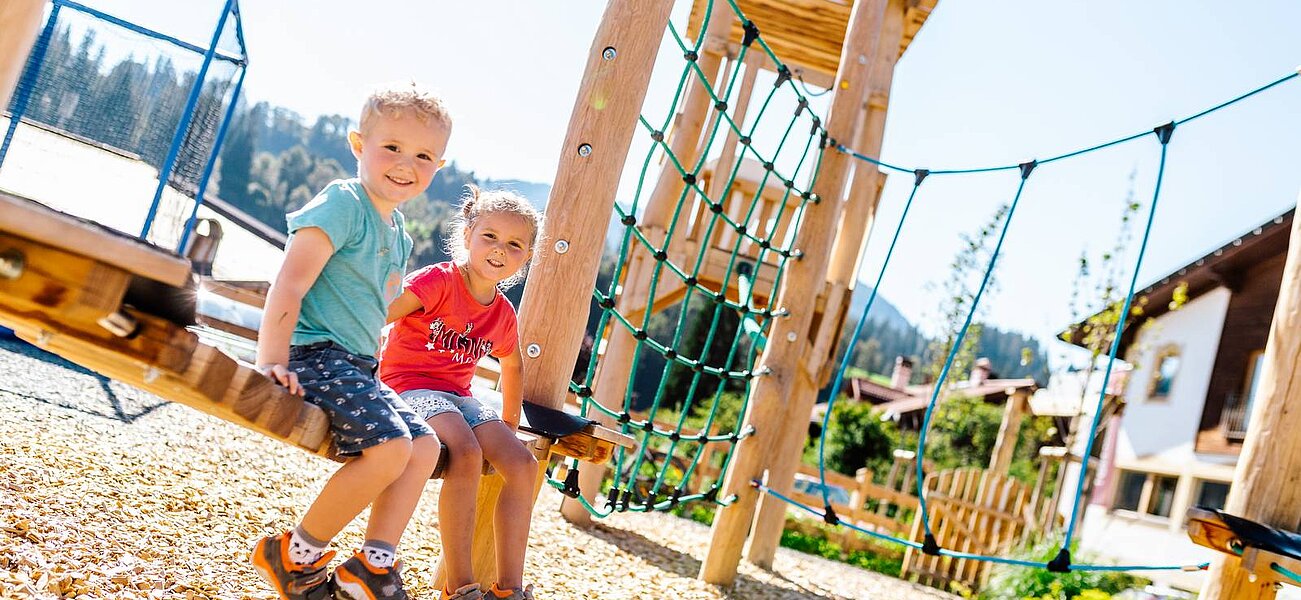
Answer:
[(402, 475), (410, 458), (411, 440), (405, 437), (362, 450), (329, 478), (303, 515), (302, 528), (319, 540), (333, 539)]

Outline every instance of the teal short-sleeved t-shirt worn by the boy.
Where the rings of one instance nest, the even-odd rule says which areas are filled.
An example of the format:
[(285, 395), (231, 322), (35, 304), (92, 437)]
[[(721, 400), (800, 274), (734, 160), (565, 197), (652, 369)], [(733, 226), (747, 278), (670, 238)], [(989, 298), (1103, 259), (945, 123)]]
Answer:
[(402, 213), (384, 223), (362, 182), (336, 180), (307, 206), (286, 216), (290, 243), (302, 228), (329, 236), (334, 254), (303, 295), (293, 345), (333, 341), (353, 354), (375, 357), (389, 303), (402, 293), (411, 256)]

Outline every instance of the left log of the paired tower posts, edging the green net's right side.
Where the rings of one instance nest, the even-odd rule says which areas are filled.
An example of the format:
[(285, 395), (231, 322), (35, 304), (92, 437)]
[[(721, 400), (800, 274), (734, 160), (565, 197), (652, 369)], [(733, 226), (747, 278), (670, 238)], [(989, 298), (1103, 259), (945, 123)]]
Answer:
[[(870, 57), (877, 55), (881, 22), (886, 0), (855, 3), (850, 14), (840, 65), (837, 72), (838, 89), (831, 103), (826, 128), (830, 135), (851, 139), (863, 98), (868, 90)], [(742, 548), (755, 515), (757, 491), (751, 480), (758, 479), (765, 466), (779, 448), (783, 420), (788, 419), (787, 400), (800, 377), (808, 377), (803, 357), (809, 348), (813, 315), (799, 306), (826, 279), (830, 259), (830, 241), (840, 213), (846, 177), (851, 157), (834, 148), (822, 155), (822, 167), (813, 193), (822, 198), (821, 206), (812, 206), (799, 232), (804, 258), (790, 267), (782, 285), (781, 298), (790, 299), (791, 315), (773, 325), (762, 364), (769, 375), (758, 379), (751, 390), (745, 420), (755, 427), (755, 435), (740, 441), (736, 458), (723, 482), (723, 497), (736, 496), (736, 501), (721, 509), (714, 517), (709, 553), (700, 567), (700, 578), (716, 584), (730, 586), (736, 579)], [(801, 422), (808, 420), (808, 410)]]

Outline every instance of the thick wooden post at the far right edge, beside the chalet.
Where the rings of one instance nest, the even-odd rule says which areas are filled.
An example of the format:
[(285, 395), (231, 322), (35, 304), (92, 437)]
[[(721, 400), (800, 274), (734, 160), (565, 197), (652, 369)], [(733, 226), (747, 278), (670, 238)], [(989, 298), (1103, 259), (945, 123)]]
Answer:
[[(1287, 266), (1265, 346), (1261, 390), (1252, 402), (1250, 427), (1226, 511), (1294, 531), (1301, 523), (1301, 219), (1292, 220)], [(1203, 600), (1272, 599), (1263, 579), (1248, 579), (1241, 560), (1218, 557), (1202, 588)]]

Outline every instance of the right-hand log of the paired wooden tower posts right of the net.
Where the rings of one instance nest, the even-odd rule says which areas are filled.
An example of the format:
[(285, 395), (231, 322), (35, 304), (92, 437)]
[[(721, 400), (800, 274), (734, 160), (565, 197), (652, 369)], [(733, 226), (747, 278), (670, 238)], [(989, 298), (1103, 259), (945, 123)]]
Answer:
[[(846, 96), (846, 102), (852, 102), (855, 108), (866, 105), (864, 128), (855, 137), (855, 147), (869, 155), (881, 152), (881, 142), (885, 137), (886, 103), (883, 98), (890, 94), (890, 82), (894, 78), (894, 65), (899, 60), (899, 44), (903, 40), (904, 1), (890, 0), (886, 3), (883, 20), (879, 21), (879, 34), (872, 31), (870, 35), (878, 39), (876, 44), (876, 60), (870, 61), (872, 74), (869, 86), (856, 96)], [(837, 102), (846, 90), (837, 91)], [(869, 99), (866, 100), (865, 99)], [(879, 100), (878, 100), (879, 99)], [(881, 189), (885, 176), (876, 165), (859, 163), (855, 165), (853, 185), (846, 202), (844, 216), (840, 219), (839, 236), (835, 238), (833, 260), (830, 263), (829, 279), (830, 290), (839, 290), (842, 294), (852, 289), (857, 267), (853, 259), (863, 247), (863, 241), (870, 229), (870, 221), (876, 215), (877, 202), (881, 199)], [(840, 258), (840, 251), (848, 251), (850, 256)], [(774, 450), (773, 461), (768, 466), (768, 484), (782, 493), (790, 493), (795, 480), (795, 469), (803, 456), (804, 440), (808, 437), (808, 419), (817, 401), (817, 392), (824, 383), (818, 376), (824, 363), (833, 357), (835, 340), (834, 332), (839, 329), (844, 315), (839, 312), (842, 302), (827, 294), (824, 319), (814, 334), (814, 348), (808, 355), (808, 372), (795, 384), (795, 390), (790, 396), (790, 413), (783, 422), (779, 445)], [(782, 540), (782, 528), (786, 525), (786, 502), (770, 496), (758, 498), (758, 515), (755, 519), (753, 532), (745, 548), (745, 560), (764, 569), (771, 569), (777, 557), (777, 548)]]

